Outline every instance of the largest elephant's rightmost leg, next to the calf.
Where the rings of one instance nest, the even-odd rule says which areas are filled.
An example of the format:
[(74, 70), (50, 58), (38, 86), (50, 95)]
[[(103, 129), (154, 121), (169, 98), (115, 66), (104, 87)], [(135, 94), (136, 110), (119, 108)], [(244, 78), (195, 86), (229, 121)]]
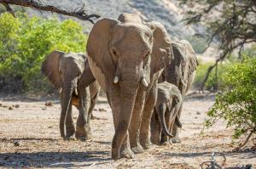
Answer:
[(154, 110), (154, 104), (157, 99), (157, 88), (156, 85), (150, 89), (148, 93), (148, 99), (145, 103), (143, 110), (142, 124), (140, 128), (140, 143), (143, 149), (149, 149), (150, 147), (150, 121)]

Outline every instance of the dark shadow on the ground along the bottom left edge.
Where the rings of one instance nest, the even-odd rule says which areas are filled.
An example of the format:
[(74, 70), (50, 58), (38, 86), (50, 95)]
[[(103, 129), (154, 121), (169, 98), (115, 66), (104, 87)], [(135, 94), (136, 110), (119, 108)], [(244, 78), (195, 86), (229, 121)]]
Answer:
[(0, 154), (0, 167), (32, 166), (67, 168), (73, 166), (91, 166), (95, 161), (111, 161), (111, 158), (102, 158), (102, 155), (110, 156), (108, 151), (3, 153)]

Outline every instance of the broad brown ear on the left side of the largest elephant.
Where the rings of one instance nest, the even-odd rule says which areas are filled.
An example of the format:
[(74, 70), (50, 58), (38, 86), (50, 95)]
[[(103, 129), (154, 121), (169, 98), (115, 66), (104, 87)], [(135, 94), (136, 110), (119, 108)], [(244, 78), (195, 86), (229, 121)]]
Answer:
[(115, 67), (108, 49), (108, 42), (111, 38), (111, 31), (114, 25), (119, 24), (118, 20), (102, 19), (96, 22), (90, 31), (87, 42), (87, 54), (90, 68), (101, 86), (105, 85), (105, 77), (114, 74)]

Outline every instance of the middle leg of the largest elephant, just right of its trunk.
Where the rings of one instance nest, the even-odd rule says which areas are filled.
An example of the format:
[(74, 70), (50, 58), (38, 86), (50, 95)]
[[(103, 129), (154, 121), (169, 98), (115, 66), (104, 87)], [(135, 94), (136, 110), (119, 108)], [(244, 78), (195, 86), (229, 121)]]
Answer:
[(143, 112), (145, 97), (146, 97), (146, 92), (143, 91), (143, 88), (139, 88), (137, 92), (136, 102), (132, 111), (131, 123), (129, 127), (129, 138), (130, 138), (131, 150), (135, 154), (139, 154), (143, 152), (143, 147), (140, 144), (140, 140), (139, 140), (139, 134), (140, 134), (139, 132), (141, 127), (142, 112)]

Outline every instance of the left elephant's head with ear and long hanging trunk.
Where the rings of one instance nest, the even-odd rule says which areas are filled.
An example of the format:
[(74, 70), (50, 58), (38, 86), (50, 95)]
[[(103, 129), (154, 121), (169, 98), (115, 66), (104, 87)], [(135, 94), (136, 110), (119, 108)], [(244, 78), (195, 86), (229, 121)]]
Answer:
[(84, 72), (84, 63), (85, 55), (83, 54), (65, 54), (61, 51), (54, 51), (42, 64), (42, 72), (56, 88), (60, 89), (62, 95), (60, 119), (62, 138), (65, 136), (64, 122), (72, 95), (78, 95), (77, 87), (79, 78)]

